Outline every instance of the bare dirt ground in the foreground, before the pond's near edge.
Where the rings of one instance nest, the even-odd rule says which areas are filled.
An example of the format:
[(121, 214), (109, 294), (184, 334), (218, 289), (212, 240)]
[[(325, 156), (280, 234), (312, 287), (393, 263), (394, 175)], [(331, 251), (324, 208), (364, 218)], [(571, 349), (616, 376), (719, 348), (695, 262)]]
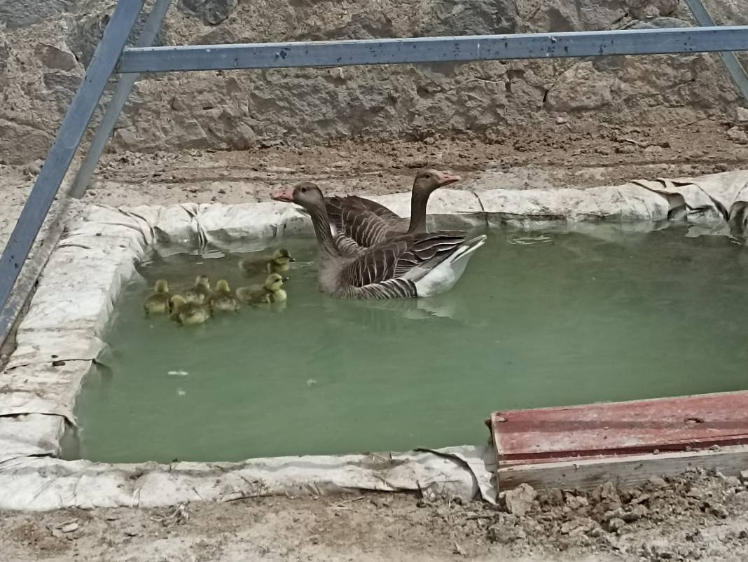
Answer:
[[(529, 487), (499, 507), (410, 495), (0, 514), (3, 561), (735, 561), (748, 491), (689, 472), (634, 489)], [(513, 512), (513, 513), (509, 513)]]

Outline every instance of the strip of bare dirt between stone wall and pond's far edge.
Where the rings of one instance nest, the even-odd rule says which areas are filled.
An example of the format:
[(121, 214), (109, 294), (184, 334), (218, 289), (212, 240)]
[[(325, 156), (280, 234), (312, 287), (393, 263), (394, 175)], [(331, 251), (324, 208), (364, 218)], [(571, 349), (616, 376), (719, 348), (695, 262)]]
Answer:
[[(711, 174), (748, 167), (748, 123), (702, 120), (665, 128), (597, 126), (506, 131), (491, 138), (335, 143), (235, 152), (109, 153), (85, 203), (173, 204), (269, 201), (298, 180), (326, 192), (382, 194), (410, 188), (414, 168), (461, 174), (459, 189), (615, 185), (645, 177)], [(0, 244), (34, 180), (34, 162), (0, 165)], [(79, 210), (77, 201), (73, 210)]]

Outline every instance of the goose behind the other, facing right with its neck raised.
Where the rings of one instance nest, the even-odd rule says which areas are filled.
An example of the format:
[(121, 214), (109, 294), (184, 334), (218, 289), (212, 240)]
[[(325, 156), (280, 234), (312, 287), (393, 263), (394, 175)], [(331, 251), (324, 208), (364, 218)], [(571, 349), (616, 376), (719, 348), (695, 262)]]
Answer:
[[(361, 248), (370, 248), (393, 236), (426, 232), (426, 207), (432, 192), (459, 180), (459, 176), (432, 168), (418, 171), (411, 189), (410, 219), (358, 195), (326, 197), (335, 244), (343, 255), (355, 256)], [(308, 214), (306, 210), (302, 212)]]

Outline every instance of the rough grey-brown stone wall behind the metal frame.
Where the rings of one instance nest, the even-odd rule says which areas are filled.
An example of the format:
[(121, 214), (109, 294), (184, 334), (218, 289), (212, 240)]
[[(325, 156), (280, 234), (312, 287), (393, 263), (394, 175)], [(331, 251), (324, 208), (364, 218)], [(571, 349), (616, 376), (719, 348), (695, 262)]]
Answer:
[[(748, 23), (745, 0), (711, 0)], [(0, 162), (46, 155), (112, 0), (0, 0)], [(678, 0), (175, 0), (159, 44), (690, 25)], [(713, 55), (170, 73), (141, 79), (114, 150), (242, 149), (335, 138), (505, 136), (557, 123), (731, 118)]]

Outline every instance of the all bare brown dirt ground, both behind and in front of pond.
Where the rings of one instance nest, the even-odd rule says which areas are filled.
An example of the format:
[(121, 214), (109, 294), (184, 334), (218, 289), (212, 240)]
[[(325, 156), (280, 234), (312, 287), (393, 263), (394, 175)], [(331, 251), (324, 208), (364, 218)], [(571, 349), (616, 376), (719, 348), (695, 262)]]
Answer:
[[(462, 174), (463, 189), (586, 187), (748, 168), (748, 124), (506, 131), (424, 143), (271, 147), (226, 153), (109, 153), (85, 204), (267, 201), (298, 180), (328, 192), (406, 191), (414, 168)], [(34, 180), (0, 165), (0, 246)], [(748, 469), (748, 467), (746, 467)], [(184, 510), (0, 513), (0, 561), (744, 561), (748, 489), (690, 473), (640, 489), (524, 495), (497, 509), (409, 495), (266, 498)], [(522, 515), (521, 512), (528, 509)], [(509, 510), (514, 513), (509, 513)]]

